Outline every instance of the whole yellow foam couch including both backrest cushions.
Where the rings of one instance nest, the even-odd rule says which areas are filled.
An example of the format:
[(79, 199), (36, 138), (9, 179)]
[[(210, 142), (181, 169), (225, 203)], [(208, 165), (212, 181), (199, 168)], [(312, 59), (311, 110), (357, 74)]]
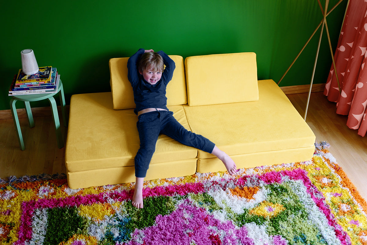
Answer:
[[(257, 80), (255, 53), (170, 57), (168, 109), (237, 168), (312, 158), (315, 135), (273, 80)], [(135, 181), (139, 136), (127, 60), (110, 59), (111, 92), (71, 97), (65, 162), (72, 189)], [(214, 155), (160, 135), (145, 180), (217, 171), (225, 167)]]

